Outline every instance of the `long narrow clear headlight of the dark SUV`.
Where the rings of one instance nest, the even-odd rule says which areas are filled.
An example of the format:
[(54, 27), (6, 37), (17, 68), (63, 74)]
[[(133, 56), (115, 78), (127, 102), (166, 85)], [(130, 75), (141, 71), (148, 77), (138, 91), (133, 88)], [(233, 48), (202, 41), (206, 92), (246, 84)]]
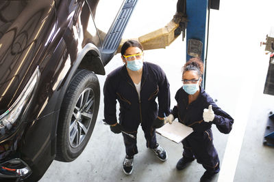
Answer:
[(14, 104), (12, 104), (12, 106), (0, 116), (0, 139), (4, 136), (12, 134), (14, 130), (16, 130), (16, 127), (20, 124), (20, 116), (29, 103), (39, 78), (40, 71), (39, 66), (37, 66), (34, 74), (32, 74), (32, 77), (29, 79), (27, 85)]

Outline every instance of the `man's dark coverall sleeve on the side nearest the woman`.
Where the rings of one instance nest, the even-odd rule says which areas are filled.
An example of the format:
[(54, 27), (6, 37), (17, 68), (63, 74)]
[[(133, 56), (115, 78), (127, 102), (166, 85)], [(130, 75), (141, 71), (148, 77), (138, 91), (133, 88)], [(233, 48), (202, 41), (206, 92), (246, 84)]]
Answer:
[[(160, 67), (159, 67), (160, 68)], [(159, 104), (159, 110), (158, 110), (158, 116), (164, 117), (164, 113), (166, 116), (169, 115), (170, 106), (171, 106), (171, 94), (169, 91), (169, 81), (166, 78), (166, 74), (164, 74), (164, 71), (160, 68), (159, 71), (159, 80), (158, 80), (158, 87), (159, 87), (159, 93), (158, 93), (158, 104)]]

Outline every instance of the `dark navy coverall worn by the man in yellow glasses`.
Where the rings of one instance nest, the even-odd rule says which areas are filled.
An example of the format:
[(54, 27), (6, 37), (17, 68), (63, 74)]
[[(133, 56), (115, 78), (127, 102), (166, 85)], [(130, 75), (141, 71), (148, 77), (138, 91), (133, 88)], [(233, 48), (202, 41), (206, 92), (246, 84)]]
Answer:
[[(116, 100), (120, 104), (119, 123), (128, 134), (137, 135), (138, 126), (142, 126), (147, 140), (147, 147), (157, 147), (155, 129), (152, 127), (156, 117), (164, 117), (164, 113), (170, 113), (169, 81), (164, 71), (153, 63), (144, 62), (142, 67), (142, 79), (140, 99), (134, 82), (127, 73), (126, 66), (118, 67), (108, 74), (104, 93), (104, 117), (109, 125), (115, 124)], [(158, 104), (155, 98), (158, 97)], [(123, 134), (125, 151), (129, 156), (138, 153), (136, 138), (130, 138)]]

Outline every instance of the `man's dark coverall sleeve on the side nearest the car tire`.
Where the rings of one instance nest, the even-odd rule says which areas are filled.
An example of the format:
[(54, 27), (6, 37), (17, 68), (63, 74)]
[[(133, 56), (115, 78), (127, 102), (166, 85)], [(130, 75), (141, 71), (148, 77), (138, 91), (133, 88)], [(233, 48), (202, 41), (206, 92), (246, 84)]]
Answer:
[(111, 81), (110, 77), (108, 76), (105, 79), (105, 85), (103, 86), (103, 102), (104, 102), (104, 109), (103, 115), (105, 117), (105, 122), (109, 125), (113, 125), (117, 122), (116, 118), (116, 94), (115, 89), (113, 87), (113, 81)]

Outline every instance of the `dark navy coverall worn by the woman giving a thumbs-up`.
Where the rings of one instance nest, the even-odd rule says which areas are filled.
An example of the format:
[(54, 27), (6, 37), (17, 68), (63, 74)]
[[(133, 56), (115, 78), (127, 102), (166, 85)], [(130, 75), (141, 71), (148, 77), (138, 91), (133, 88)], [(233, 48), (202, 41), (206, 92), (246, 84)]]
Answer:
[[(218, 130), (228, 134), (232, 130), (234, 119), (221, 110), (210, 95), (200, 87), (197, 100), (188, 104), (188, 93), (181, 87), (176, 95), (177, 106), (174, 106), (172, 114), (180, 123), (192, 127), (194, 132), (187, 136), (182, 144), (184, 157), (195, 157), (199, 164), (203, 165), (208, 172), (219, 172), (219, 157), (213, 145), (211, 125), (214, 123)], [(215, 117), (212, 122), (203, 121), (203, 109), (212, 105)]]

